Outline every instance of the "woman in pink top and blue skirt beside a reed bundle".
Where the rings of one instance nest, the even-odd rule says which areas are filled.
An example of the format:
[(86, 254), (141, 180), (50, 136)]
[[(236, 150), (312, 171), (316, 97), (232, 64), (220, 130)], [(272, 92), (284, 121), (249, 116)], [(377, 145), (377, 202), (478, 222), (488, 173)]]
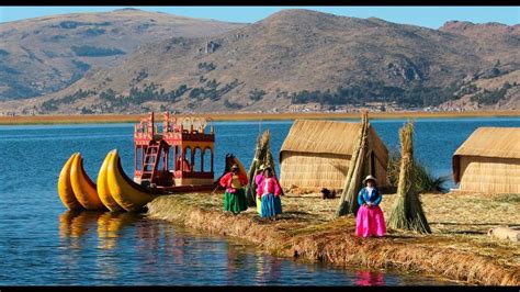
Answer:
[(257, 189), (257, 196), (261, 198), (260, 217), (270, 217), (274, 221), (276, 215), (282, 213), (282, 200), (280, 199), (282, 188), (273, 177), (271, 167), (265, 167), (263, 176), (264, 179)]

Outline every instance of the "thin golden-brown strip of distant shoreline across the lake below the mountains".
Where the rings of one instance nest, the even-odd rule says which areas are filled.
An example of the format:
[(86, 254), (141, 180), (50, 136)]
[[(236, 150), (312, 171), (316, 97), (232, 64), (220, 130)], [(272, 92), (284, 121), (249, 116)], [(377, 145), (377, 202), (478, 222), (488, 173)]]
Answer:
[[(93, 123), (137, 123), (143, 114), (75, 114), (75, 115), (16, 115), (0, 116), (0, 125), (24, 124), (93, 124)], [(360, 119), (357, 113), (197, 113), (176, 114), (170, 116), (205, 116), (214, 121), (279, 121), (296, 119)], [(370, 112), (370, 119), (449, 119), (449, 117), (485, 117), (520, 116), (520, 111), (468, 111), (468, 112)], [(162, 113), (156, 113), (156, 121), (162, 121)]]

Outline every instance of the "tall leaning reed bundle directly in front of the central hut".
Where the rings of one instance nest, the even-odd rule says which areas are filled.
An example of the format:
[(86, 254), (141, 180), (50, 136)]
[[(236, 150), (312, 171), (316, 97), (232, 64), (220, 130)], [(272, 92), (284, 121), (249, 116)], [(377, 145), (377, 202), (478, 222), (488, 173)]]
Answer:
[(369, 135), (371, 127), (369, 123), (369, 112), (363, 111), (361, 114), (361, 131), (357, 139), (354, 151), (352, 153), (344, 188), (341, 193), (341, 199), (339, 200), (339, 206), (336, 211), (335, 217), (347, 214), (353, 214), (355, 216), (358, 214), (360, 206), (358, 204), (357, 195), (361, 189), (361, 181), (366, 173), (372, 173), (373, 171), (370, 169), (371, 164), (368, 164), (369, 168), (366, 168), (365, 164), (369, 158), (369, 154), (372, 150), (372, 141)]

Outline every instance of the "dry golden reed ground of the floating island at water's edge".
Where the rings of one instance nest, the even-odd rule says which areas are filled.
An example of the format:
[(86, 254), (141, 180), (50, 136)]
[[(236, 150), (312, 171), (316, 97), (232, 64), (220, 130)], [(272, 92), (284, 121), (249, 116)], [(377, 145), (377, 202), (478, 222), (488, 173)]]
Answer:
[[(448, 199), (443, 198), (446, 195)], [(353, 216), (332, 218), (338, 199), (321, 200), (319, 194), (284, 195), (284, 213), (275, 222), (260, 220), (255, 207), (239, 215), (224, 213), (222, 193), (159, 196), (148, 203), (147, 216), (210, 234), (244, 239), (273, 256), (341, 267), (397, 269), (466, 284), (519, 285), (518, 244), (491, 239), (485, 234), (485, 229), (497, 222), (507, 224), (518, 221), (519, 215), (515, 213), (507, 211), (504, 214), (501, 205), (504, 200), (512, 200), (512, 206), (508, 202), (508, 209), (518, 210), (518, 198), (479, 199), (484, 203), (491, 202), (490, 205), (483, 205), (483, 209), (491, 209), (493, 215), (481, 218), (483, 224), (472, 225), (479, 209), (453, 214), (451, 209), (460, 206), (444, 205), (436, 211), (439, 204), (445, 202), (442, 199), (453, 200), (460, 195), (429, 194), (422, 198), (433, 231), (431, 235), (388, 229), (388, 234), (382, 238), (359, 238), (354, 236)], [(386, 202), (382, 203), (382, 207), (385, 214), (389, 213), (395, 200), (392, 196), (384, 196)], [(499, 213), (504, 214), (501, 221), (495, 216)], [(457, 223), (457, 220), (463, 222)]]

